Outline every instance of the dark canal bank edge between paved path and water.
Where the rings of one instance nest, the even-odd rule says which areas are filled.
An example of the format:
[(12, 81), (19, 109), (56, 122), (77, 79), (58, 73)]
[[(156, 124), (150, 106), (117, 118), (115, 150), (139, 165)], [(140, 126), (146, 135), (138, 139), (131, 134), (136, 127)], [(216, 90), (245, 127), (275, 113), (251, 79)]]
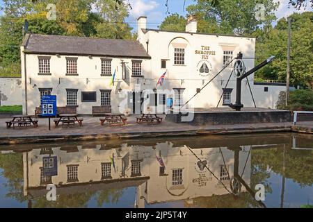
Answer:
[(31, 136), (5, 136), (0, 137), (0, 145), (6, 144), (30, 144), (45, 142), (66, 142), (92, 139), (131, 139), (148, 137), (186, 137), (199, 135), (232, 135), (249, 133), (281, 133), (296, 132), (313, 134), (313, 126), (262, 126), (242, 128), (220, 128), (201, 130), (176, 130), (173, 131), (150, 131), (134, 133), (105, 133), (105, 134), (72, 134), (72, 135), (31, 135)]

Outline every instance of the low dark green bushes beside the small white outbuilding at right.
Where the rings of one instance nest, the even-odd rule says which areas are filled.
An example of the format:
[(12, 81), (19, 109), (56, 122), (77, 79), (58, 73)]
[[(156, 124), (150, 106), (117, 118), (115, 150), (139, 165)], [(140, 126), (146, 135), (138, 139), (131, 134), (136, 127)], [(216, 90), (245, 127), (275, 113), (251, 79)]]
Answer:
[(282, 110), (313, 111), (313, 90), (297, 89), (289, 93), (288, 106), (286, 107), (286, 93), (280, 92), (276, 107)]

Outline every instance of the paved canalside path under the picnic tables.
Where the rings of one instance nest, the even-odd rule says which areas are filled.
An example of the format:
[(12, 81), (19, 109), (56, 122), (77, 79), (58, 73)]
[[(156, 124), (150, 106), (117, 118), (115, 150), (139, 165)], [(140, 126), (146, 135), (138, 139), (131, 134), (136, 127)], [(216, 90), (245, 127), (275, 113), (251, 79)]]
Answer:
[[(83, 117), (83, 126), (58, 126), (54, 127), (51, 118), (51, 131), (48, 129), (48, 119), (40, 118), (38, 128), (6, 128), (6, 121), (10, 118), (0, 119), (0, 144), (12, 142), (14, 139), (27, 138), (62, 138), (62, 137), (141, 137), (141, 136), (170, 136), (170, 135), (205, 135), (226, 133), (255, 133), (290, 131), (292, 123), (257, 123), (234, 125), (206, 125), (191, 126), (188, 123), (172, 123), (163, 121), (160, 124), (136, 123), (136, 116), (128, 117), (128, 124), (121, 127), (100, 125), (99, 117)], [(313, 126), (313, 122), (299, 122), (299, 125)], [(20, 141), (22, 142), (22, 141)]]

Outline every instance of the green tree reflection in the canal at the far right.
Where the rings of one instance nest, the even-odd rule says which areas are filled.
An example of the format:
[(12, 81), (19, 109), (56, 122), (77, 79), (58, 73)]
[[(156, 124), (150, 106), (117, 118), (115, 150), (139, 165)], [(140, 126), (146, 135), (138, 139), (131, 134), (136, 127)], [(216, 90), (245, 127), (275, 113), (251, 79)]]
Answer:
[[(267, 169), (294, 180), (301, 187), (313, 185), (313, 151), (285, 151), (285, 172), (283, 173), (283, 148), (252, 150), (251, 162), (257, 171), (266, 174)], [(269, 172), (267, 173), (269, 177)], [(252, 174), (252, 178), (253, 178)], [(262, 183), (262, 181), (260, 181)]]

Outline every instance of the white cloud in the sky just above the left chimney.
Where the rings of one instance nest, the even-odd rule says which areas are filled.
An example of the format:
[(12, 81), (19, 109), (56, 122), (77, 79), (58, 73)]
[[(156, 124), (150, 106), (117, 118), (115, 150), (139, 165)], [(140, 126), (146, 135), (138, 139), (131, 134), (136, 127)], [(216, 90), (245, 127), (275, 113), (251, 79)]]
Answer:
[(139, 17), (141, 15), (146, 15), (147, 12), (150, 12), (156, 9), (159, 6), (157, 1), (146, 1), (146, 0), (129, 0), (131, 3), (131, 10), (129, 10), (129, 14), (131, 17)]

